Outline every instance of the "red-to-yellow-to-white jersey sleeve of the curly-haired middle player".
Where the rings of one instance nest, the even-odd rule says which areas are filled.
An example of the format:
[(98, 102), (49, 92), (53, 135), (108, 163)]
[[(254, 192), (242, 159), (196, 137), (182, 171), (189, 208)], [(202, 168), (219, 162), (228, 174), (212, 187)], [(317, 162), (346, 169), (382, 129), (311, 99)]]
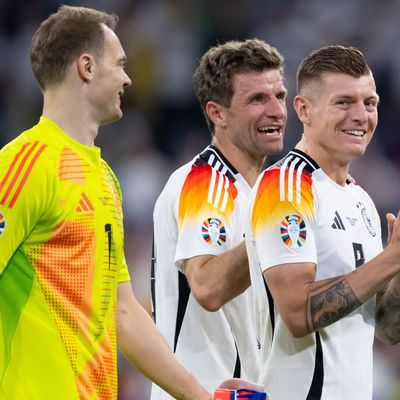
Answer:
[(232, 217), (237, 189), (208, 164), (193, 165), (178, 203), (175, 262), (199, 255), (219, 255), (232, 247)]

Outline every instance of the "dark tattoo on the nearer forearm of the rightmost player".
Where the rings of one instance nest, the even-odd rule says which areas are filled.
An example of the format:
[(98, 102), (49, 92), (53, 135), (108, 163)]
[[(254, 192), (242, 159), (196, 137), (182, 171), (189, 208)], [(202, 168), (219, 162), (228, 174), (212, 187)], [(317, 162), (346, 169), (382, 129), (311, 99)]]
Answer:
[(329, 281), (308, 295), (306, 324), (309, 332), (324, 328), (361, 305), (346, 279)]

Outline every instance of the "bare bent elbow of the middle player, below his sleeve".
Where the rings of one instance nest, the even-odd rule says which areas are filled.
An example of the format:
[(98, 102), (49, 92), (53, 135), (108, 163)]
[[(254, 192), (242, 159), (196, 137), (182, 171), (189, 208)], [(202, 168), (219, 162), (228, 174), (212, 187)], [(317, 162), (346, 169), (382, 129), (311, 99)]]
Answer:
[(183, 261), (182, 270), (199, 304), (217, 311), (250, 286), (244, 241), (218, 256), (202, 255)]

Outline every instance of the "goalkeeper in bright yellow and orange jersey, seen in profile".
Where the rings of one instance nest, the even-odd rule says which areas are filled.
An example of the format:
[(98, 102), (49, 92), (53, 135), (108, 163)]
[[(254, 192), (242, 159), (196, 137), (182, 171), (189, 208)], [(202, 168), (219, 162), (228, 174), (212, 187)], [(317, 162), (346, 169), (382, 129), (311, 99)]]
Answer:
[(121, 193), (94, 146), (131, 80), (117, 17), (62, 6), (32, 40), (40, 121), (0, 151), (0, 398), (117, 399), (116, 343), (180, 399), (211, 399), (135, 299)]

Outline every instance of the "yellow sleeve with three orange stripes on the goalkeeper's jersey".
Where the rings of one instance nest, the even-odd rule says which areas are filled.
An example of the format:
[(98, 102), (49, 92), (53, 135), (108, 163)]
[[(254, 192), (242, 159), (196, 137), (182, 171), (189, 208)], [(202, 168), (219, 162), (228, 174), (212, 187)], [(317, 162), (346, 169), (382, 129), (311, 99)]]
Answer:
[(0, 274), (53, 201), (46, 148), (11, 142), (0, 153)]

